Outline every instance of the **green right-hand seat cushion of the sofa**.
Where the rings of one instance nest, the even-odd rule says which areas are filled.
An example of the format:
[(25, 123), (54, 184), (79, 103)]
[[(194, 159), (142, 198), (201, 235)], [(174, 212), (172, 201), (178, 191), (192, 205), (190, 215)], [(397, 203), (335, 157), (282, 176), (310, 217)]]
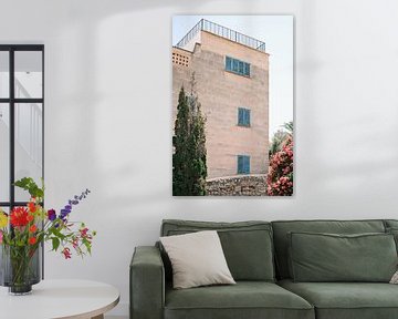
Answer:
[(283, 288), (314, 305), (316, 319), (398, 318), (398, 286), (379, 282), (293, 282)]

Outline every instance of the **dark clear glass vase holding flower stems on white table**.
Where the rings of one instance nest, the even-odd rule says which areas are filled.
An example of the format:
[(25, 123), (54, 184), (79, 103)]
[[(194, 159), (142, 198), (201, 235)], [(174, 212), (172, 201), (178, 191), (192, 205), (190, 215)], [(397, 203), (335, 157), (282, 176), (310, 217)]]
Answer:
[(1, 245), (0, 285), (10, 295), (28, 295), (32, 285), (40, 282), (40, 248)]

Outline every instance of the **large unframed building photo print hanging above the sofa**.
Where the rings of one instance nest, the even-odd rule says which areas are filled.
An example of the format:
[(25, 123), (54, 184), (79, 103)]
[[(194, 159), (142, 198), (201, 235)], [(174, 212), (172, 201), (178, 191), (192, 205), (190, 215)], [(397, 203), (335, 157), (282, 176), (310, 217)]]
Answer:
[(175, 16), (172, 195), (293, 195), (293, 17)]

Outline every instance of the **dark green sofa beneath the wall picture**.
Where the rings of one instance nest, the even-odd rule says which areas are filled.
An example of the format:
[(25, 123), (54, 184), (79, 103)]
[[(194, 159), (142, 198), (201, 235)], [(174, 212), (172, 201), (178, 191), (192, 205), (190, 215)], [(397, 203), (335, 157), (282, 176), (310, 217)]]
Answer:
[[(380, 282), (378, 277), (373, 280), (371, 277), (371, 274), (383, 268), (379, 271), (384, 271), (384, 278), (387, 278), (390, 271), (395, 271), (391, 270), (391, 265), (380, 268), (377, 260), (376, 264), (375, 260), (369, 261), (366, 267), (359, 264), (359, 269), (353, 270), (353, 274), (357, 270), (359, 277), (353, 277), (353, 282), (344, 279), (350, 276), (349, 268), (343, 271), (337, 269), (337, 272), (342, 274), (335, 275), (337, 277), (334, 281), (333, 265), (329, 265), (333, 264), (333, 254), (339, 254), (345, 245), (348, 245), (347, 247), (374, 249), (369, 251), (381, 254), (380, 256), (394, 254), (391, 258), (395, 259), (391, 263), (396, 268), (397, 248), (394, 239), (395, 235), (398, 238), (398, 220), (212, 223), (169, 219), (163, 222), (160, 235), (181, 235), (207, 229), (218, 230), (237, 285), (172, 289), (170, 261), (160, 245), (136, 247), (129, 272), (132, 319), (398, 318), (398, 285), (390, 285), (385, 279)], [(324, 235), (318, 235), (320, 233)], [(311, 234), (315, 234), (315, 238), (312, 238)], [(327, 234), (341, 235), (333, 237)], [(293, 235), (298, 238), (292, 239)], [(291, 255), (292, 240), (294, 249), (305, 254)], [(323, 245), (328, 245), (328, 241), (335, 245), (335, 249), (320, 249), (326, 247)], [(305, 247), (307, 243), (313, 243), (308, 249)], [(368, 243), (376, 243), (376, 246), (370, 247)], [(353, 256), (357, 250), (354, 250)], [(314, 256), (314, 260), (320, 265), (306, 267), (306, 255)], [(294, 260), (291, 256), (294, 256)], [(332, 256), (332, 259), (327, 259), (328, 264), (322, 264), (322, 256), (326, 256), (326, 259)], [(343, 264), (342, 267), (347, 265)], [(312, 282), (311, 277), (310, 282), (295, 280), (300, 276), (305, 278), (308, 269), (314, 269), (314, 278), (326, 276), (326, 282)], [(343, 279), (338, 276), (343, 276)], [(366, 278), (366, 282), (362, 282), (360, 278)]]

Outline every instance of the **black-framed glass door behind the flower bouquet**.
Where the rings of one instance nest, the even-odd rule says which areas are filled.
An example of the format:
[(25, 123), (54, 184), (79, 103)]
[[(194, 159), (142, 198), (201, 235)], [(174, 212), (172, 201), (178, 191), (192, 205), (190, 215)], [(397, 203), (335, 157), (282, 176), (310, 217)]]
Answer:
[[(0, 44), (0, 207), (29, 200), (13, 183), (44, 177), (44, 45)], [(43, 267), (42, 267), (43, 269)]]

